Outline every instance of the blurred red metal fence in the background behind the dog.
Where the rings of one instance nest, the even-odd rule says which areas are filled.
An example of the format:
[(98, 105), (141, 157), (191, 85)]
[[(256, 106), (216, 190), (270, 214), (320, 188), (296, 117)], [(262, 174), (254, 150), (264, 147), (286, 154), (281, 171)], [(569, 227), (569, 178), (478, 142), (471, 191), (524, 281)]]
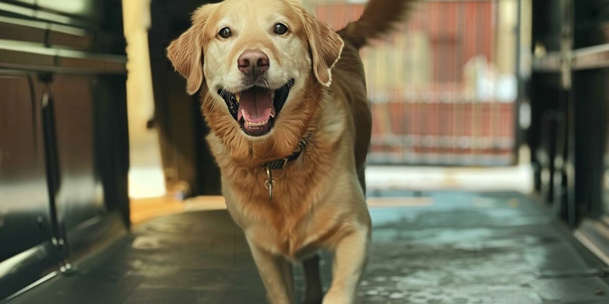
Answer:
[[(304, 2), (334, 29), (364, 9), (356, 1)], [(400, 31), (362, 50), (374, 123), (369, 162), (511, 164), (516, 80), (494, 63), (498, 0), (415, 9)]]

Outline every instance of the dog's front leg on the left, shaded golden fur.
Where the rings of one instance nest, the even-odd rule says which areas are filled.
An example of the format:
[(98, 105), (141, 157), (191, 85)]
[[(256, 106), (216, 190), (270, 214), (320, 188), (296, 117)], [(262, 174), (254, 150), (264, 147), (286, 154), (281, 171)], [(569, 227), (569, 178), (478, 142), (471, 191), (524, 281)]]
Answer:
[(294, 276), (292, 265), (283, 257), (278, 257), (259, 248), (248, 240), (250, 249), (262, 283), (267, 290), (271, 304), (292, 304), (294, 302)]

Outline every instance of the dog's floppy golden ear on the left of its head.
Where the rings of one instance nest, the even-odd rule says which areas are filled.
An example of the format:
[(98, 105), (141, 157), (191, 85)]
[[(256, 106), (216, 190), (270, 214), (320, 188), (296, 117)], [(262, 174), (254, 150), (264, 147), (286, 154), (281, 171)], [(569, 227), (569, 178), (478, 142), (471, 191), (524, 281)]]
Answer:
[(219, 4), (203, 5), (192, 14), (192, 26), (167, 47), (167, 57), (186, 78), (186, 92), (193, 95), (203, 84), (203, 32)]

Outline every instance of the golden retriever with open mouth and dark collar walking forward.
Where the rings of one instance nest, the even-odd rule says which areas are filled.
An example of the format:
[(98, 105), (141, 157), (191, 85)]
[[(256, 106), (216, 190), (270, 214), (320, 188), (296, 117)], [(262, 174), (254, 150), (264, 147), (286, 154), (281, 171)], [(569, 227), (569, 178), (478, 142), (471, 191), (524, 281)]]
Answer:
[(371, 0), (334, 32), (297, 0), (226, 0), (197, 9), (167, 49), (188, 94), (202, 96), (228, 211), (270, 303), (294, 303), (291, 263), (317, 250), (334, 253), (323, 303), (355, 300), (371, 231), (371, 114), (359, 49), (411, 2)]

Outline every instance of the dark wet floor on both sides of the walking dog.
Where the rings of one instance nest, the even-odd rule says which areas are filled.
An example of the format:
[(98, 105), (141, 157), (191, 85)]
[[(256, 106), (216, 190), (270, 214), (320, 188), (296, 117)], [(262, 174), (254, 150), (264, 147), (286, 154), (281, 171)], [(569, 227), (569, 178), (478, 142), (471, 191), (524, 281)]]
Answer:
[[(607, 269), (515, 193), (382, 193), (361, 303), (609, 303)], [(407, 194), (407, 193), (406, 193)], [(384, 207), (383, 207), (384, 206)], [(322, 268), (329, 284), (329, 260)], [(297, 283), (301, 278), (297, 271)], [(15, 303), (266, 303), (225, 210), (152, 219)]]

